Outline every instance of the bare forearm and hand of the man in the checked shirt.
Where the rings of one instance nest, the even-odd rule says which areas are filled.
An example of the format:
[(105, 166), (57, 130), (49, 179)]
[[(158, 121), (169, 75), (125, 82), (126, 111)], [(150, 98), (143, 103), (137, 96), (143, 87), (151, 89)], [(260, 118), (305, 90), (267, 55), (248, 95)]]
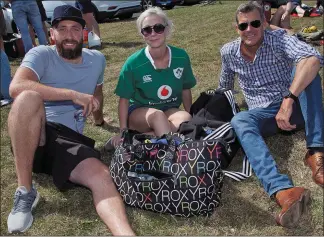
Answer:
[[(296, 67), (294, 80), (289, 88), (291, 93), (295, 96), (299, 96), (300, 93), (314, 80), (319, 69), (320, 62), (316, 57), (309, 57), (299, 61)], [(284, 99), (279, 112), (276, 115), (278, 127), (283, 130), (290, 131), (296, 128), (296, 125), (291, 125), (289, 122), (293, 110), (293, 103), (294, 101), (291, 98)]]

